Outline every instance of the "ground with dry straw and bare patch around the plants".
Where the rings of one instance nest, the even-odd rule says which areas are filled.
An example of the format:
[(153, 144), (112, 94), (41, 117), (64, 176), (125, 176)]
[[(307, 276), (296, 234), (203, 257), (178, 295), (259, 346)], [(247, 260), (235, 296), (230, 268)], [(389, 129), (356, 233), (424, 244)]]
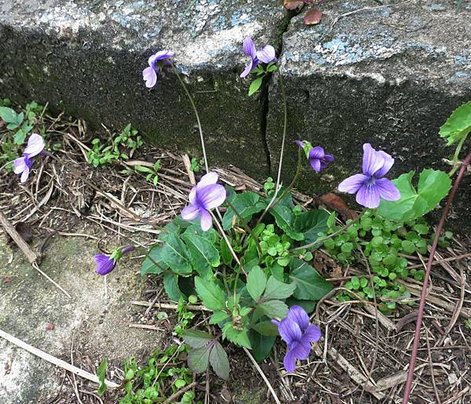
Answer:
[[(161, 159), (157, 186), (140, 174), (121, 174), (124, 167), (119, 164), (92, 168), (85, 155), (95, 135), (82, 121), (45, 117), (45, 122), (48, 139), (60, 143), (59, 151), (39, 161), (26, 185), (20, 185), (14, 174), (2, 171), (0, 210), (12, 224), (27, 224), (32, 233), (30, 243), (43, 256), (40, 268), (73, 299), (67, 299), (31, 268), (15, 245), (7, 246), (3, 232), (0, 329), (90, 372), (96, 372), (98, 362), (107, 357), (111, 362), (109, 378), (120, 383), (120, 366), (127, 356), (143, 359), (156, 346), (165, 347), (172, 341), (171, 322), (159, 322), (153, 315), (160, 310), (159, 303), (167, 302), (160, 280), (141, 279), (138, 269), (159, 228), (186, 204), (192, 174), (182, 155), (150, 148), (133, 158), (147, 162)], [(239, 170), (216, 171), (236, 188), (262, 189)], [(298, 197), (306, 206), (317, 200)], [(103, 279), (94, 273), (93, 254), (124, 244), (142, 249), (108, 276), (105, 289)], [(449, 248), (435, 256), (413, 403), (464, 404), (471, 400), (471, 331), (465, 326), (471, 317), (467, 279), (470, 246), (466, 235), (456, 236)], [(315, 259), (316, 267), (332, 279), (336, 290), (348, 276), (365, 271), (340, 268), (322, 252), (316, 253)], [(409, 261), (410, 265), (421, 264), (420, 257), (409, 257)], [(412, 304), (400, 306), (391, 317), (377, 312), (374, 304), (338, 302), (334, 294), (326, 296), (313, 314), (324, 338), (295, 374), (286, 374), (281, 367), (282, 344), (259, 370), (243, 351), (230, 347), (231, 380), (224, 383), (211, 372), (198, 375), (197, 396), (211, 403), (274, 402), (261, 371), (282, 402), (401, 402), (415, 328), (414, 302), (421, 287), (411, 279), (405, 283), (413, 296)], [(153, 307), (138, 307), (131, 304), (133, 300), (152, 302)], [(203, 320), (200, 313), (194, 322)], [(36, 383), (27, 389), (21, 380)], [(0, 339), (0, 398), (3, 394), (14, 399), (0, 401), (119, 401), (119, 391), (99, 398), (96, 387)]]

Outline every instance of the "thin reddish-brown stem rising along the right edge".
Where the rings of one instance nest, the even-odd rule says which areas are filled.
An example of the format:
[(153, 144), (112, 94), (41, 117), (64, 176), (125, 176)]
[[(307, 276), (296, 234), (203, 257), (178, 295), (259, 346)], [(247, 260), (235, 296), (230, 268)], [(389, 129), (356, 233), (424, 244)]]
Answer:
[(471, 161), (471, 153), (469, 153), (464, 159), (464, 161), (461, 163), (460, 171), (456, 177), (455, 183), (453, 184), (453, 188), (451, 189), (450, 196), (448, 197), (448, 200), (446, 201), (445, 209), (443, 209), (442, 217), (440, 218), (440, 222), (438, 223), (438, 227), (437, 227), (437, 230), (435, 231), (435, 236), (433, 238), (433, 244), (430, 250), (430, 256), (427, 261), (427, 267), (425, 269), (425, 278), (424, 278), (424, 283), (422, 285), (422, 294), (420, 295), (419, 310), (417, 312), (417, 322), (415, 325), (414, 344), (412, 345), (412, 353), (411, 353), (410, 362), (409, 362), (409, 369), (407, 372), (406, 387), (404, 388), (404, 397), (402, 399), (402, 404), (407, 404), (409, 402), (410, 392), (412, 388), (412, 381), (414, 379), (415, 361), (417, 360), (417, 352), (419, 349), (420, 329), (422, 328), (422, 319), (424, 317), (428, 281), (430, 278), (430, 270), (432, 269), (433, 258), (435, 256), (435, 250), (437, 249), (437, 246), (438, 246), (438, 239), (440, 238), (440, 234), (445, 225), (445, 221), (448, 216), (451, 203), (453, 202), (453, 199), (455, 198), (456, 191), (461, 183), (463, 175), (466, 171), (466, 167), (469, 165), (470, 161)]

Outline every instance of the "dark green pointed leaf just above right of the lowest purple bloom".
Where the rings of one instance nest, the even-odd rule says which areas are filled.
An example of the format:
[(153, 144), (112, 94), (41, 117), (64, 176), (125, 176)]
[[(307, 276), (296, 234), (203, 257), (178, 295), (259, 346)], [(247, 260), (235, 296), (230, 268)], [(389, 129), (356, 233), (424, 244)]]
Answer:
[(293, 258), (290, 268), (289, 278), (296, 284), (293, 293), (296, 299), (320, 300), (332, 290), (332, 285), (303, 260)]

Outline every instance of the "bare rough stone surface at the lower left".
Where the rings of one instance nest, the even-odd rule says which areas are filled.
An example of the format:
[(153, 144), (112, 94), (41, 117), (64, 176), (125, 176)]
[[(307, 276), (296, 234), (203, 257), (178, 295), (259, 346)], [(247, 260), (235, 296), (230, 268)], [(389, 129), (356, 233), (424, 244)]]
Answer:
[[(129, 302), (140, 297), (139, 263), (120, 263), (108, 276), (105, 297), (103, 278), (94, 271), (95, 253), (96, 242), (80, 238), (48, 244), (41, 269), (72, 295), (68, 299), (2, 236), (0, 329), (68, 362), (72, 348), (76, 362), (77, 356), (95, 364), (106, 358), (118, 367), (130, 356), (142, 359), (154, 350), (160, 344), (156, 331), (129, 328), (135, 314)], [(61, 374), (59, 368), (0, 338), (0, 403), (46, 402), (58, 394)]]

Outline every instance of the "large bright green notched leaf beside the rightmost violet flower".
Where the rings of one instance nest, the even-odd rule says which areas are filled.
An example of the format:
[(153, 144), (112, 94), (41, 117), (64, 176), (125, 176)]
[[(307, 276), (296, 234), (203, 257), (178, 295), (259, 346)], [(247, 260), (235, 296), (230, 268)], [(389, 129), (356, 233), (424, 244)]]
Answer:
[(413, 176), (414, 171), (410, 171), (393, 180), (401, 193), (401, 199), (381, 201), (378, 213), (383, 218), (406, 222), (422, 217), (435, 209), (451, 188), (451, 179), (443, 171), (431, 168), (423, 170), (419, 176), (417, 191), (412, 185)]

